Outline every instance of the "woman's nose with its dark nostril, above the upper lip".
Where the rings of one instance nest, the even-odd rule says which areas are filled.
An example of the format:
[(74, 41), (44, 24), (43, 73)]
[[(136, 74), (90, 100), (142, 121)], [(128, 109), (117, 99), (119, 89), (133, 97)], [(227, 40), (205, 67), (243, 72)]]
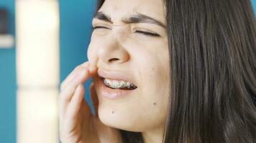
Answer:
[(98, 49), (98, 56), (105, 64), (122, 64), (129, 60), (127, 50), (114, 36), (110, 39), (105, 39), (102, 47)]

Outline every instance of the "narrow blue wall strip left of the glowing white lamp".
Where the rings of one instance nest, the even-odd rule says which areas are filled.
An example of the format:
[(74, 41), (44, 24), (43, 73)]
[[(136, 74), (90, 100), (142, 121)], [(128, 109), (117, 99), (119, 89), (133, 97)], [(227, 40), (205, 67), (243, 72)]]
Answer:
[[(0, 0), (9, 11), (9, 31), (14, 35), (14, 0)], [(0, 49), (0, 142), (16, 142), (15, 49)]]

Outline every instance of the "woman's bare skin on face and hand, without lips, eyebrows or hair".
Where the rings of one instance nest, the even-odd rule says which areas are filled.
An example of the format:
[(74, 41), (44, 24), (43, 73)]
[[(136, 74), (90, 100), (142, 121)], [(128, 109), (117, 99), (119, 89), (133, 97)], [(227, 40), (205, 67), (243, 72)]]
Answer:
[[(121, 142), (117, 129), (124, 129), (142, 132), (146, 143), (161, 142), (170, 79), (166, 29), (152, 23), (128, 24), (123, 19), (144, 14), (165, 24), (163, 1), (106, 0), (99, 11), (111, 17), (111, 22), (93, 19), (93, 27), (98, 28), (91, 36), (88, 61), (74, 69), (61, 84), (60, 140)], [(102, 97), (98, 69), (129, 73), (137, 89), (120, 99)], [(91, 114), (83, 99), (81, 84), (89, 77), (93, 78), (90, 91), (96, 115)]]

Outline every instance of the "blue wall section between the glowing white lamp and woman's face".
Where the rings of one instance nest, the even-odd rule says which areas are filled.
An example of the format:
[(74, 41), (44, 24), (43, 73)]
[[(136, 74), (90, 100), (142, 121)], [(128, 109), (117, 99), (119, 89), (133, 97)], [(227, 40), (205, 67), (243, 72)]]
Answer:
[[(91, 20), (94, 0), (60, 1), (60, 80), (70, 74), (78, 64), (87, 59), (87, 46), (91, 39)], [(91, 79), (86, 82), (88, 89)], [(86, 90), (86, 101), (91, 107), (89, 93)]]

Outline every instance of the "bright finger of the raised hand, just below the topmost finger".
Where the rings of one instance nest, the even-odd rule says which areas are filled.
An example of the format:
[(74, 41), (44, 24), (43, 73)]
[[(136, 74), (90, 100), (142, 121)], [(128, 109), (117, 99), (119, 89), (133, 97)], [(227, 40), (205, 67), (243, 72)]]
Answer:
[(90, 77), (90, 72), (88, 69), (86, 71), (81, 72), (75, 79), (73, 79), (70, 84), (67, 85), (67, 87), (60, 92), (60, 112), (62, 114), (65, 113), (66, 108), (70, 102), (71, 97), (73, 96), (74, 92), (76, 91), (76, 88), (79, 84), (82, 84)]

